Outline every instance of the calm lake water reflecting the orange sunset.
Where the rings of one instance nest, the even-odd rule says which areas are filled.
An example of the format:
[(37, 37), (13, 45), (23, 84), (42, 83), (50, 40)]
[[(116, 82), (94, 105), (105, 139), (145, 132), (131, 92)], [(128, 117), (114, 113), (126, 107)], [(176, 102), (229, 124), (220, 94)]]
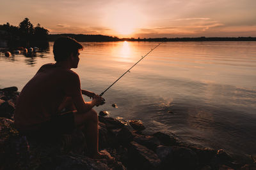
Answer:
[[(74, 71), (83, 89), (100, 94), (156, 45), (83, 43)], [(52, 43), (34, 57), (1, 53), (0, 88), (15, 85), (21, 90), (49, 62), (54, 62)], [(163, 43), (103, 97), (107, 103), (97, 111), (140, 119), (146, 132), (172, 132), (188, 143), (256, 153), (256, 42)]]

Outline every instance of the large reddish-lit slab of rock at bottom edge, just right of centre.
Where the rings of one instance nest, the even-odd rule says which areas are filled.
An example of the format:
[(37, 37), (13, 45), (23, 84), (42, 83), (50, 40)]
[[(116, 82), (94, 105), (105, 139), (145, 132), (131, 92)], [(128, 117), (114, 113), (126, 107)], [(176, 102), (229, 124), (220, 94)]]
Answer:
[[(132, 141), (131, 146), (128, 148), (130, 155), (130, 166), (135, 166), (136, 169), (157, 169), (161, 160), (157, 157), (156, 153)], [(132, 168), (131, 168), (132, 169)]]

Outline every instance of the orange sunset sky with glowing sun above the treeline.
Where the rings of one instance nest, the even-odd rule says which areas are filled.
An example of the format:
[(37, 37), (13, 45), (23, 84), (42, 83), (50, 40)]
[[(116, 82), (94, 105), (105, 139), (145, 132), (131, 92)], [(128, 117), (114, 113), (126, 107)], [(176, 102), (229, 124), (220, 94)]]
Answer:
[(0, 24), (26, 17), (50, 34), (156, 38), (256, 36), (255, 0), (0, 0)]

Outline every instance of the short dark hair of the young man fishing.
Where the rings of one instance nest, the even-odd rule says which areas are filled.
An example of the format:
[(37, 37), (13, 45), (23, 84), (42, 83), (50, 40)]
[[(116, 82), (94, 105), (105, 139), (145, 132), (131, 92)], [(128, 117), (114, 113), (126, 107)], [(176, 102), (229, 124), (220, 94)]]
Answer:
[(82, 49), (83, 46), (76, 41), (76, 39), (61, 36), (60, 38), (54, 41), (53, 53), (54, 60), (63, 61), (67, 60), (71, 53), (77, 53), (77, 50)]

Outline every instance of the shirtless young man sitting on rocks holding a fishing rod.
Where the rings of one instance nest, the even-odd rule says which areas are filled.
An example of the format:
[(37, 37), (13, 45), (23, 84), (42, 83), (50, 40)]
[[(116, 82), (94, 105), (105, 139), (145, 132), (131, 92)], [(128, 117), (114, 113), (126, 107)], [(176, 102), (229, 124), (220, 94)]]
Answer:
[[(100, 158), (103, 155), (98, 150), (98, 116), (92, 108), (104, 103), (104, 99), (81, 90), (79, 76), (70, 70), (77, 67), (79, 50), (83, 46), (72, 38), (61, 37), (54, 42), (56, 63), (40, 67), (20, 92), (15, 127), (28, 136), (66, 134), (80, 127), (90, 157)], [(92, 101), (85, 102), (82, 94), (92, 97)], [(66, 112), (59, 114), (63, 110)]]

